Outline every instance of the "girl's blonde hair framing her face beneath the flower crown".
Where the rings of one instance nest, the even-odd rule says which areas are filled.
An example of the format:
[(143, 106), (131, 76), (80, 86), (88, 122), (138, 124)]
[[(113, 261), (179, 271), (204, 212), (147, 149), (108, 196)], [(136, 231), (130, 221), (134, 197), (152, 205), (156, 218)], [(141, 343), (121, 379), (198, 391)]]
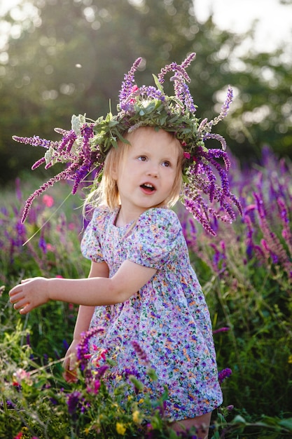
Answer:
[[(149, 128), (155, 129), (149, 126), (139, 127), (136, 130), (127, 133), (124, 137), (130, 142), (131, 137), (137, 130)], [(178, 201), (181, 194), (183, 183), (184, 156), (183, 147), (181, 147), (181, 144), (179, 140), (177, 140), (174, 136), (174, 133), (169, 133), (168, 131), (165, 131), (165, 133), (167, 133), (169, 137), (172, 137), (172, 140), (176, 140), (177, 147), (179, 148), (179, 157), (177, 161), (174, 186), (172, 187), (172, 191), (170, 192), (169, 197), (167, 198), (167, 200), (165, 200), (167, 207), (172, 207), (176, 203), (176, 201)], [(121, 140), (118, 140), (118, 147), (112, 147), (110, 149), (104, 161), (102, 181), (100, 182), (99, 187), (97, 187), (95, 191), (92, 191), (92, 193), (86, 198), (85, 205), (90, 205), (92, 208), (97, 207), (97, 205), (106, 205), (111, 210), (118, 208), (118, 206), (120, 205), (120, 196), (118, 193), (118, 184), (116, 182), (116, 179), (113, 178), (113, 173), (116, 171), (118, 166), (120, 166), (120, 163), (123, 163), (123, 160), (125, 159), (125, 156), (127, 155), (127, 152), (131, 147), (132, 145), (130, 143), (127, 144), (122, 142)]]

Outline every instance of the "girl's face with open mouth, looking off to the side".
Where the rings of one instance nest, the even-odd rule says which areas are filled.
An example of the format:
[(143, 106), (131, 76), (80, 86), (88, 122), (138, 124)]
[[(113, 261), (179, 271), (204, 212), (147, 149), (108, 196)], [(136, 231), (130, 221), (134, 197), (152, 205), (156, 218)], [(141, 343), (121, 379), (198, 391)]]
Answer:
[(181, 145), (164, 130), (141, 127), (128, 135), (131, 147), (113, 170), (120, 196), (120, 225), (164, 205), (176, 181)]

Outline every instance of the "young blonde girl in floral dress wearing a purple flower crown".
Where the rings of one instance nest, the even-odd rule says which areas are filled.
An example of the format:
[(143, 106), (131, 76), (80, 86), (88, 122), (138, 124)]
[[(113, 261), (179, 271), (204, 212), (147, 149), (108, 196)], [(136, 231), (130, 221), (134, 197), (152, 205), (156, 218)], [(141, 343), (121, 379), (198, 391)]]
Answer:
[[(208, 122), (206, 128), (204, 121), (200, 128), (193, 115), (195, 106), (185, 83), (185, 67), (193, 56), (180, 66), (172, 63), (162, 69), (157, 88), (133, 86), (136, 62), (125, 76), (116, 118), (110, 115), (107, 121), (98, 119), (90, 125), (80, 117), (81, 128), (74, 119), (74, 130), (62, 132), (63, 140), (55, 149), (49, 145), (52, 161), (54, 157), (64, 159), (64, 151), (71, 154), (71, 163), (76, 163), (77, 156), (78, 167), (71, 165), (70, 171), (72, 176), (74, 170), (77, 183), (86, 158), (86, 172), (92, 164), (98, 171), (103, 169), (102, 182), (90, 196), (90, 203), (97, 207), (81, 243), (83, 255), (91, 260), (89, 278), (27, 279), (11, 290), (10, 297), (21, 314), (49, 300), (80, 305), (74, 340), (64, 360), (68, 381), (75, 379), (81, 334), (103, 327), (104, 334), (90, 341), (92, 355), (96, 346), (105, 349), (109, 358), (115, 356), (116, 374), (130, 367), (155, 396), (155, 386), (134, 351), (132, 342), (138, 342), (158, 374), (159, 384), (167, 386), (165, 412), (176, 431), (195, 426), (199, 437), (207, 438), (211, 412), (222, 403), (211, 321), (190, 266), (181, 224), (169, 207), (183, 193), (187, 208), (212, 231), (208, 212), (216, 218), (221, 214), (213, 205), (207, 206), (200, 192), (219, 201), (230, 220), (234, 218), (230, 201), (239, 205), (230, 194), (225, 171), (215, 160), (223, 157), (227, 162), (226, 154), (214, 149), (209, 155), (202, 144), (204, 138), (218, 139), (209, 133), (215, 122)], [(165, 95), (161, 85), (162, 75), (170, 69), (175, 73), (175, 97)], [(225, 116), (229, 101), (230, 96), (218, 120)], [(215, 183), (210, 163), (218, 170), (222, 187)], [(184, 185), (183, 173), (188, 177)], [(36, 195), (43, 189), (46, 187)], [(28, 208), (25, 215), (27, 212)]]

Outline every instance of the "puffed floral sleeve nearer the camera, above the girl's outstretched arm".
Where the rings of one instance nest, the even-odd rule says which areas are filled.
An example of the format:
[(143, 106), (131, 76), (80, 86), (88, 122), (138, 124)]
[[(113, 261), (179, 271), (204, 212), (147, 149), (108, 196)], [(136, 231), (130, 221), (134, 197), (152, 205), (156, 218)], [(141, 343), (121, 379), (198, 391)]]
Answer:
[(175, 261), (182, 236), (181, 223), (175, 212), (165, 208), (146, 210), (125, 240), (127, 259), (160, 269)]

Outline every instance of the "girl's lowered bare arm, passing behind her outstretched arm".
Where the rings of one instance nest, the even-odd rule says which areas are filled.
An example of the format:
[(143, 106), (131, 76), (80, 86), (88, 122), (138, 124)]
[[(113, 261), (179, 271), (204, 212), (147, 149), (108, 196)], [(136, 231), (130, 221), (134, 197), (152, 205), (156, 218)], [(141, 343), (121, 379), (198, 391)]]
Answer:
[[(99, 262), (98, 264), (92, 262), (89, 276), (93, 277), (109, 277), (109, 267), (105, 262)], [(76, 324), (74, 328), (74, 336), (69, 349), (64, 358), (64, 379), (72, 382), (76, 381), (76, 348), (81, 340), (81, 334), (88, 331), (92, 313), (95, 310), (95, 306), (79, 306), (78, 316), (76, 318)]]

